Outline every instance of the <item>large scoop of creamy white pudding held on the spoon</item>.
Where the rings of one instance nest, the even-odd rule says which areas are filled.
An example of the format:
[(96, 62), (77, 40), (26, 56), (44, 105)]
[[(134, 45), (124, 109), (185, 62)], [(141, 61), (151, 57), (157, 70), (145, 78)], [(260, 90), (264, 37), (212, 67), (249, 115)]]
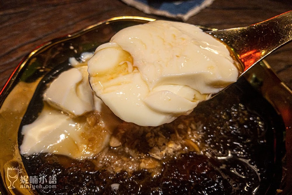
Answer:
[(88, 73), (96, 95), (119, 118), (158, 126), (235, 82), (235, 63), (224, 44), (198, 27), (156, 20), (99, 46)]

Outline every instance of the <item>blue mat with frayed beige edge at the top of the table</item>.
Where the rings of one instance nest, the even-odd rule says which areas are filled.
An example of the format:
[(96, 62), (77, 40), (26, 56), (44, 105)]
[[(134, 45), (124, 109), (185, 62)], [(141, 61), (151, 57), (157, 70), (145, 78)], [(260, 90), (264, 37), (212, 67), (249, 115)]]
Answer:
[(201, 9), (209, 6), (214, 0), (122, 0), (148, 14), (163, 15), (166, 17), (187, 20)]

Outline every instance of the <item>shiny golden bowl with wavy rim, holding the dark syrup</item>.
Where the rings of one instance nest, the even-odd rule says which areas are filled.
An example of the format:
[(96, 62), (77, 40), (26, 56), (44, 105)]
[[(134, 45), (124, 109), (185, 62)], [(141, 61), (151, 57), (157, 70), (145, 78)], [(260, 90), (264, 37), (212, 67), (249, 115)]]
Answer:
[[(53, 73), (52, 71), (67, 70), (69, 68), (68, 58), (77, 58), (85, 51), (94, 51), (100, 44), (108, 42), (119, 30), (153, 20), (151, 18), (125, 16), (102, 21), (79, 32), (54, 39), (37, 47), (18, 65), (0, 92), (0, 134), (2, 138), (0, 142), (0, 192), (2, 194), (37, 194), (34, 189), (20, 188), (23, 181), (20, 178), (27, 178), (28, 175), (19, 152), (18, 141), (22, 119), (25, 117), (29, 103), (42, 78), (48, 77)], [(292, 178), (292, 92), (264, 61), (251, 68), (241, 80), (247, 81), (250, 88), (256, 89), (262, 94), (284, 121), (286, 132), (285, 128), (278, 131), (281, 131), (280, 135), (283, 132), (286, 134), (280, 139), (286, 139), (287, 152), (286, 156), (280, 155), (284, 151), (275, 142), (274, 161), (279, 164), (281, 162), (279, 156), (281, 158), (284, 156), (284, 168), (283, 174), (281, 174), (284, 182), (282, 181), (280, 187), (281, 190), (291, 190), (291, 184), (285, 183), (285, 181), (286, 178)], [(34, 97), (41, 98), (41, 94), (36, 94)], [(279, 139), (277, 138), (275, 141), (279, 142)], [(281, 166), (280, 164), (279, 166)], [(8, 180), (8, 171), (14, 171), (15, 175), (18, 176), (12, 186)], [(277, 183), (279, 182), (277, 181)]]

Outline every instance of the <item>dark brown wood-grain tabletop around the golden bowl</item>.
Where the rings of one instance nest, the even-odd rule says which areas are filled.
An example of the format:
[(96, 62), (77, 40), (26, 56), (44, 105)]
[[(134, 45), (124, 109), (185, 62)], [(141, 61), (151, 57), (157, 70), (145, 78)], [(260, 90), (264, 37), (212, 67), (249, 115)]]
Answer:
[[(292, 9), (291, 0), (215, 0), (187, 23), (218, 29), (254, 24)], [(119, 0), (0, 1), (0, 89), (18, 63), (36, 46), (116, 16), (156, 19)], [(292, 44), (266, 58), (292, 88)]]

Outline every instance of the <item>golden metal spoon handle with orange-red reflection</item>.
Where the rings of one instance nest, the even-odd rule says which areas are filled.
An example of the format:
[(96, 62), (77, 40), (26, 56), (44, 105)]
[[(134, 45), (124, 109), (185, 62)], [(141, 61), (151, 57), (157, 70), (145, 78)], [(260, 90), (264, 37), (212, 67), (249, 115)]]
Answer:
[(292, 11), (240, 28), (209, 32), (230, 46), (244, 64), (244, 72), (292, 40)]

